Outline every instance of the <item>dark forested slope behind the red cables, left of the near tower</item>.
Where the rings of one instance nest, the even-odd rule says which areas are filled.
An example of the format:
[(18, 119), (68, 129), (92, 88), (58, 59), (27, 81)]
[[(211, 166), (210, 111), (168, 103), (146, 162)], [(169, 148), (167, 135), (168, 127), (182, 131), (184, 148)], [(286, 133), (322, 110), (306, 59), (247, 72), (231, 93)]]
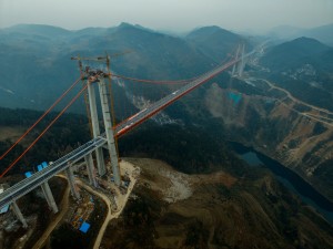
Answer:
[[(37, 111), (0, 107), (0, 127), (23, 127), (26, 129), (41, 115), (42, 113)], [(4, 167), (10, 165), (23, 152), (26, 146), (23, 147), (21, 144), (30, 144), (56, 116), (57, 113), (50, 113), (22, 143), (8, 154), (1, 160), (0, 170), (3, 170)], [(9, 174), (24, 173), (27, 170), (33, 172), (41, 162), (56, 160), (89, 139), (88, 120), (78, 114), (64, 114)], [(0, 154), (2, 155), (12, 144), (13, 141), (0, 141)]]

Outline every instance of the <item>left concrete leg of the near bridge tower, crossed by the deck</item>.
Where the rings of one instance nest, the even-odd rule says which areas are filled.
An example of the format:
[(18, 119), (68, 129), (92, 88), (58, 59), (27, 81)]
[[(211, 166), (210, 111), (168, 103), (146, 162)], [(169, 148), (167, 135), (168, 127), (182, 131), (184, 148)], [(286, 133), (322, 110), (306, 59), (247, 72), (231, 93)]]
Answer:
[[(89, 81), (88, 84), (88, 96), (89, 96), (89, 106), (90, 106), (90, 115), (91, 115), (91, 123), (92, 123), (92, 133), (93, 137), (98, 137), (100, 135), (100, 125), (99, 125), (99, 117), (97, 111), (97, 103), (95, 103), (95, 92), (92, 83)], [(98, 170), (99, 175), (103, 176), (107, 173), (105, 163), (103, 157), (103, 151), (101, 147), (95, 149), (95, 157), (98, 163)]]

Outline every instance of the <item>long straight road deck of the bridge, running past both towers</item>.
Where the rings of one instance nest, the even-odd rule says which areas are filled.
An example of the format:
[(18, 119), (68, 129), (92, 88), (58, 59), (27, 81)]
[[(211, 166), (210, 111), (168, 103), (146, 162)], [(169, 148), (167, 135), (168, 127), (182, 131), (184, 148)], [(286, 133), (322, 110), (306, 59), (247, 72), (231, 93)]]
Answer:
[[(252, 51), (244, 55), (244, 58), (250, 56), (255, 51)], [(151, 106), (142, 110), (138, 114), (129, 117), (121, 124), (114, 127), (114, 135), (117, 137), (122, 136), (133, 127), (138, 126), (152, 115), (157, 114), (162, 108), (167, 107), (168, 105), (172, 104), (183, 95), (188, 94), (199, 85), (205, 83), (206, 81), (211, 80), (219, 73), (225, 71), (230, 66), (234, 65), (241, 61), (241, 59), (234, 59), (226, 64), (220, 65), (212, 71), (204, 73), (193, 80), (191, 83), (184, 85), (180, 90), (171, 93), (170, 95), (163, 97), (162, 100), (155, 102)], [(58, 160), (53, 162), (53, 164), (49, 165), (47, 168), (34, 173), (31, 177), (26, 178), (16, 185), (11, 186), (10, 188), (6, 189), (3, 193), (0, 194), (0, 208), (4, 207), (13, 203), (14, 200), (19, 199), (20, 197), (24, 196), (27, 193), (33, 190), (34, 188), (39, 187), (42, 183), (47, 181), (54, 175), (63, 172), (67, 169), (71, 164), (82, 159), (85, 155), (89, 155), (98, 147), (103, 146), (107, 144), (105, 135), (101, 135), (92, 141), (89, 141), (84, 145), (78, 147), (77, 149), (72, 151), (71, 153), (67, 154), (65, 156), (59, 158)]]

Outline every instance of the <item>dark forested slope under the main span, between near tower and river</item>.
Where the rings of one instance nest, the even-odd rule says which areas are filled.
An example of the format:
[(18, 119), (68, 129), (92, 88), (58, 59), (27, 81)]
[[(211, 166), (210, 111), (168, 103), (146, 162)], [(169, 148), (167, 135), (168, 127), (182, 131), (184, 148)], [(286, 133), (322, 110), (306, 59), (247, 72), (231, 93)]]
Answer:
[(122, 137), (119, 148), (123, 157), (162, 159), (183, 173), (210, 173), (223, 165), (235, 175), (242, 174), (242, 163), (224, 142), (194, 126), (145, 123)]

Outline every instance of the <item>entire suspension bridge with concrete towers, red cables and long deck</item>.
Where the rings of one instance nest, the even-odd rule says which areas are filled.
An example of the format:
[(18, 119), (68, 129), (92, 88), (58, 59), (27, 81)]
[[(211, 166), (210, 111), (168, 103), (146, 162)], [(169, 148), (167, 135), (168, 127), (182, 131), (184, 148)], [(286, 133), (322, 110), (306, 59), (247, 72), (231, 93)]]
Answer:
[[(105, 83), (105, 79), (111, 77), (123, 77), (129, 79), (125, 76), (120, 76), (112, 74), (110, 70), (101, 71), (101, 70), (91, 70), (87, 66), (83, 70), (82, 68), (82, 58), (73, 58), (73, 60), (79, 60), (79, 65), (81, 69), (81, 75), (78, 81), (73, 83), (56, 102), (54, 104), (44, 112), (44, 114), (0, 157), (2, 159), (7, 156), (8, 153), (32, 129), (34, 126), (48, 114), (51, 110), (67, 95), (69, 91), (71, 91), (74, 85), (82, 80), (85, 82), (82, 89), (78, 92), (78, 94), (69, 102), (69, 104), (56, 116), (54, 120), (39, 134), (39, 136), (26, 148), (26, 151), (12, 162), (0, 175), (3, 177), (28, 152), (29, 149), (47, 133), (47, 131), (57, 122), (57, 120), (82, 95), (83, 92), (88, 92), (87, 94), (87, 103), (88, 103), (88, 111), (89, 111), (89, 118), (92, 128), (92, 136), (93, 138), (85, 144), (81, 145), (80, 147), (75, 148), (71, 153), (62, 156), (61, 158), (57, 159), (52, 164), (47, 167), (43, 167), (41, 170), (32, 174), (31, 176), (24, 178), (23, 180), (14, 184), (13, 186), (6, 189), (3, 193), (0, 194), (0, 209), (7, 205), (12, 206), (12, 210), (14, 211), (17, 218), (22, 222), (23, 227), (28, 227), (28, 224), (17, 205), (17, 200), (24, 196), (26, 194), (32, 191), (33, 189), (41, 187), (43, 195), (48, 201), (49, 207), (52, 209), (53, 212), (58, 212), (58, 206), (54, 201), (52, 191), (48, 184), (48, 180), (52, 178), (54, 175), (64, 172), (68, 179), (72, 196), (74, 198), (80, 198), (80, 194), (75, 188), (74, 175), (72, 170), (72, 166), (78, 163), (79, 160), (84, 160), (87, 166), (87, 173), (89, 177), (89, 181), (92, 186), (97, 186), (97, 176), (94, 174), (94, 160), (93, 154), (95, 155), (95, 163), (98, 168), (99, 176), (103, 176), (107, 173), (105, 169), (105, 162), (103, 156), (103, 151), (108, 151), (111, 166), (112, 166), (112, 174), (114, 178), (114, 184), (120, 186), (121, 185), (121, 175), (119, 168), (119, 156), (117, 151), (117, 139), (122, 135), (127, 134), (129, 131), (134, 128), (135, 126), (140, 125), (142, 122), (147, 121), (154, 114), (159, 113), (161, 110), (165, 108), (173, 102), (178, 101), (182, 96), (186, 95), (198, 86), (202, 85), (203, 83), (208, 82), (212, 77), (216, 76), (218, 74), (226, 71), (228, 69), (232, 68), (232, 73), (235, 72), (241, 75), (245, 65), (245, 61), (249, 56), (251, 56), (255, 51), (250, 53), (244, 53), (244, 49), (239, 50), (242, 52), (238, 52), (236, 56), (231, 59), (229, 62), (216, 66), (215, 69), (192, 79), (190, 82), (184, 84), (179, 90), (172, 92), (171, 94), (164, 96), (163, 98), (157, 101), (155, 103), (149, 105), (148, 107), (141, 110), (134, 115), (131, 115), (127, 120), (122, 121), (120, 124), (114, 125), (112, 118), (112, 103), (109, 103), (109, 92)], [(105, 60), (109, 69), (109, 56), (105, 58), (97, 58), (97, 61)], [(140, 81), (140, 80), (139, 80)], [(168, 81), (165, 81), (168, 83)], [(104, 123), (104, 132), (100, 131), (99, 125), (99, 117), (98, 117), (98, 108), (97, 108), (97, 93), (94, 85), (98, 85), (99, 90), (99, 98), (100, 98), (100, 106), (101, 113), (103, 116)]]

